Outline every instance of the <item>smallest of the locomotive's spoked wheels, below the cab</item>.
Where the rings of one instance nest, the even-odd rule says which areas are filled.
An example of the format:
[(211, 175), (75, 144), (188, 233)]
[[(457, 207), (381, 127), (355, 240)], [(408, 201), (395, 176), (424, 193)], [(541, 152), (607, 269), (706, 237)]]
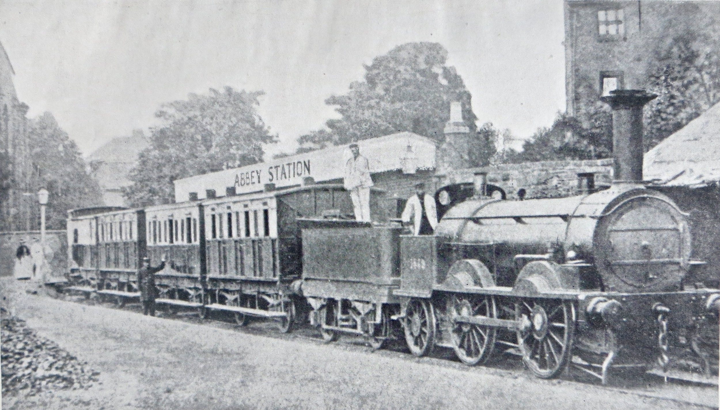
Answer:
[(405, 310), (402, 329), (405, 332), (405, 342), (413, 355), (420, 357), (430, 352), (435, 339), (435, 327), (435, 310), (430, 301), (411, 299)]

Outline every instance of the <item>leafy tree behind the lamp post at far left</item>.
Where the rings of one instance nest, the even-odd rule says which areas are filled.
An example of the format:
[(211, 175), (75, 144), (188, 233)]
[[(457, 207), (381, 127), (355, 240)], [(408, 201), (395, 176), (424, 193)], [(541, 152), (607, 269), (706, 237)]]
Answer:
[(86, 172), (88, 167), (80, 150), (53, 114), (45, 112), (31, 119), (27, 139), (31, 163), (27, 188), (35, 192), (44, 186), (50, 192), (48, 229), (64, 229), (68, 209), (101, 204), (97, 181)]

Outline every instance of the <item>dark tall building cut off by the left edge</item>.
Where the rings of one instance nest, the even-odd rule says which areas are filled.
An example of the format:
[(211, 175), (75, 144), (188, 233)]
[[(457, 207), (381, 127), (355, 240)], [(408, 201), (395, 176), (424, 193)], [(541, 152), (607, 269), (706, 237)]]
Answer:
[[(27, 186), (31, 170), (27, 161), (28, 106), (17, 99), (10, 59), (0, 43), (0, 231), (30, 229), (30, 201), (37, 197), (22, 193)], [(35, 192), (35, 191), (32, 191)]]

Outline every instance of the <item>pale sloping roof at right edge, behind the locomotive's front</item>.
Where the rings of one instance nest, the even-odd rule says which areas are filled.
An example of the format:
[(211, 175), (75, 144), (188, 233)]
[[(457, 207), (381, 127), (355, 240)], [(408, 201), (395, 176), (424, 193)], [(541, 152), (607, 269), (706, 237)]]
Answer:
[(720, 181), (720, 103), (645, 154), (644, 179), (698, 188)]

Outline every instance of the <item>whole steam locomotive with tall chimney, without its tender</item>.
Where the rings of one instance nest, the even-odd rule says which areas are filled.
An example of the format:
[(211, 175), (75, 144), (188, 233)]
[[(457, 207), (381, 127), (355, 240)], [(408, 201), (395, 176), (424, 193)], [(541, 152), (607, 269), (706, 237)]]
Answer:
[[(434, 236), (400, 238), (398, 316), (415, 355), (452, 347), (464, 363), (519, 352), (532, 373), (568, 363), (603, 382), (639, 368), (694, 380), (717, 374), (720, 292), (693, 286), (686, 214), (642, 183), (642, 106), (616, 91), (616, 168), (606, 191), (564, 199), (477, 196)], [(681, 374), (682, 373), (682, 374)]]

